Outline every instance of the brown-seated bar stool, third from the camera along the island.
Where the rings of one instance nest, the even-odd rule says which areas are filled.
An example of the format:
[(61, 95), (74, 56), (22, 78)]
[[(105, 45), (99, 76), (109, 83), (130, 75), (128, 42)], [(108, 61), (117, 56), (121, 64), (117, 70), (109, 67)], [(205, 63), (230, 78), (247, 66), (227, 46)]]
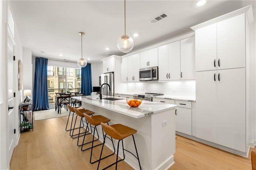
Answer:
[[(76, 109), (75, 107), (73, 107), (75, 113), (76, 113), (76, 119), (77, 117), (79, 116), (80, 117), (80, 124), (79, 124), (79, 132), (77, 134), (74, 134), (74, 129), (75, 129), (75, 126), (76, 126), (76, 119), (75, 119), (75, 123), (74, 123), (74, 127), (73, 127), (73, 131), (72, 131), (72, 135), (71, 135), (71, 138), (74, 139), (74, 138), (78, 138), (77, 140), (77, 146), (80, 147), (81, 145), (79, 145), (79, 138), (82, 137), (83, 135), (85, 135), (87, 132), (89, 132), (89, 128), (88, 128), (88, 131), (85, 131), (83, 133), (80, 133), (80, 130), (81, 130), (81, 123), (83, 124), (82, 127), (84, 127), (84, 121), (82, 120), (83, 117), (84, 117), (84, 114), (86, 115), (93, 115), (94, 112), (93, 111), (90, 111), (90, 110), (87, 110), (87, 109)], [(86, 121), (86, 124), (88, 125), (88, 122)], [(71, 133), (71, 131), (70, 131)], [(89, 132), (91, 133), (91, 132)], [(78, 135), (78, 136), (76, 136)]]

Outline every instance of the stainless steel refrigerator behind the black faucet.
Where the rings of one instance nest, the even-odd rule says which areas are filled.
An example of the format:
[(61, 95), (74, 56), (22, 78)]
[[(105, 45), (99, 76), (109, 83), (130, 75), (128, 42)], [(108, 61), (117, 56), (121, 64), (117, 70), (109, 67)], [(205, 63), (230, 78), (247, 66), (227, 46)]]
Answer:
[(101, 84), (103, 83), (108, 83), (110, 90), (108, 85), (104, 84), (102, 86), (102, 95), (114, 96), (114, 72), (101, 74)]

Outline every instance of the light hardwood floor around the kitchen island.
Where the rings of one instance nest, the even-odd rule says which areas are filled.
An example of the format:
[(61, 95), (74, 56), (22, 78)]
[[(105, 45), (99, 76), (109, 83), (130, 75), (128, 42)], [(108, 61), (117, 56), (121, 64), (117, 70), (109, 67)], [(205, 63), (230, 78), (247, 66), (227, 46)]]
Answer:
[[(11, 170), (95, 170), (97, 163), (90, 164), (90, 150), (82, 152), (76, 145), (77, 139), (71, 139), (65, 131), (66, 117), (34, 121), (34, 131), (22, 133), (15, 147)], [(237, 156), (202, 143), (176, 136), (175, 164), (169, 170), (251, 170), (251, 159)], [(93, 160), (100, 154), (95, 147)], [(110, 149), (104, 150), (109, 154)], [(139, 149), (139, 148), (138, 148)], [(256, 151), (256, 149), (250, 149)], [(100, 168), (115, 161), (115, 154), (102, 160)], [(112, 166), (109, 169), (114, 169)], [(130, 170), (126, 162), (118, 162), (118, 169)]]

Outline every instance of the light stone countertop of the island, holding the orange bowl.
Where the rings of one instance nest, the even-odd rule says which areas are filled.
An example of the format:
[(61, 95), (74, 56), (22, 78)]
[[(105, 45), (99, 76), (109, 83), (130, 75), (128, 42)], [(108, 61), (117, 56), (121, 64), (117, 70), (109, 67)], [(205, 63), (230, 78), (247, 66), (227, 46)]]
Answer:
[[(104, 98), (117, 98), (122, 100), (104, 100)], [(157, 103), (157, 102), (149, 102), (149, 101), (142, 101), (142, 104), (139, 107), (130, 107), (126, 103), (125, 98), (113, 97), (113, 96), (102, 96), (102, 100), (99, 100), (98, 95), (93, 96), (75, 96), (72, 97), (74, 99), (80, 100), (87, 104), (92, 104), (94, 106), (102, 107), (104, 109), (109, 109), (115, 111), (117, 113), (121, 113), (130, 117), (140, 118), (144, 117), (153, 113), (160, 113), (162, 111), (166, 111), (168, 109), (174, 109), (177, 105), (174, 104), (164, 104), (164, 103)]]

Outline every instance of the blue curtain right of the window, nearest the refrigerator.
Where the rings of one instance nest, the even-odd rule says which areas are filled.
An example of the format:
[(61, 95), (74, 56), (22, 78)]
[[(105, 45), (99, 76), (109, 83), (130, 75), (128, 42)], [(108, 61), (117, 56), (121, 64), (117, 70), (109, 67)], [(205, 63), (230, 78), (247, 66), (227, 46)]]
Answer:
[(91, 64), (87, 64), (81, 70), (81, 93), (85, 96), (89, 96), (92, 93), (92, 70)]

